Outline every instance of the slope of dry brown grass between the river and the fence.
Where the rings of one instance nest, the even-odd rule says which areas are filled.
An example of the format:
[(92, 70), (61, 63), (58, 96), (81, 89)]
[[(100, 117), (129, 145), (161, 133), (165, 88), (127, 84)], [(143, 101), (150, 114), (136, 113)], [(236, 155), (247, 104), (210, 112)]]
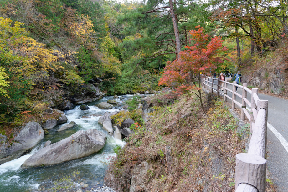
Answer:
[[(163, 105), (167, 100), (161, 97), (165, 98), (149, 99), (159, 106), (154, 107), (146, 129), (128, 138), (112, 160), (107, 184), (127, 191), (133, 167), (147, 161), (153, 166), (146, 175), (149, 191), (233, 191), (235, 155), (245, 146), (228, 108), (211, 95), (205, 101), (205, 111), (194, 97), (182, 96), (168, 106)], [(181, 118), (183, 115), (186, 117)], [(169, 173), (163, 151), (166, 145), (171, 147), (173, 158), (173, 171)], [(110, 183), (107, 179), (111, 175), (114, 180)]]

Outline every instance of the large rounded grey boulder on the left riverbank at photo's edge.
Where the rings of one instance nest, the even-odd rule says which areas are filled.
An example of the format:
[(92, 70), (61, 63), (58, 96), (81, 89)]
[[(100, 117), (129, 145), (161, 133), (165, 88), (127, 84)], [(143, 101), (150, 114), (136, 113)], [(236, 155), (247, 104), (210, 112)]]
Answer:
[[(44, 130), (36, 122), (28, 122), (11, 143), (6, 142), (7, 137), (2, 137), (0, 146), (0, 164), (17, 159), (22, 154), (31, 150), (39, 141), (44, 139)], [(4, 141), (5, 140), (5, 141)]]

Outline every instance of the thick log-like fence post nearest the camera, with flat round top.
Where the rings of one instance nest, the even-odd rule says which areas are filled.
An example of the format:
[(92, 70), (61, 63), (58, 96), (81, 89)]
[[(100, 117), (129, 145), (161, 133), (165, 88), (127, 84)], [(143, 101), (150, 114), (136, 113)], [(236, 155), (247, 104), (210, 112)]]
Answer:
[[(238, 185), (246, 183), (265, 192), (266, 189), (266, 159), (255, 154), (239, 153), (236, 155), (235, 191)], [(244, 192), (244, 191), (243, 191)], [(245, 192), (248, 192), (247, 190)]]

